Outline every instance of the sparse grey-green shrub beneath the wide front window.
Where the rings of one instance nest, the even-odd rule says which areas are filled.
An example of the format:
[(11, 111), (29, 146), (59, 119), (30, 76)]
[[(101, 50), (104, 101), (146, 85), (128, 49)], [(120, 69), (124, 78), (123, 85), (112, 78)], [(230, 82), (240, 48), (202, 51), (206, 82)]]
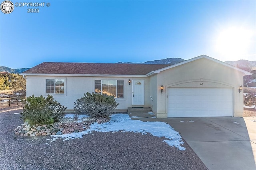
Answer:
[(87, 92), (84, 97), (76, 100), (74, 111), (76, 114), (108, 118), (118, 105), (115, 99), (111, 97)]

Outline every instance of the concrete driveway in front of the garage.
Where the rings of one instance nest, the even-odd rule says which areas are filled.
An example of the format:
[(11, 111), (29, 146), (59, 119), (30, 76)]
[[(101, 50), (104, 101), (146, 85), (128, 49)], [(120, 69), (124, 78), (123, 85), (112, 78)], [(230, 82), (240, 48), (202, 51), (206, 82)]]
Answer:
[(168, 118), (209, 170), (256, 170), (256, 117)]

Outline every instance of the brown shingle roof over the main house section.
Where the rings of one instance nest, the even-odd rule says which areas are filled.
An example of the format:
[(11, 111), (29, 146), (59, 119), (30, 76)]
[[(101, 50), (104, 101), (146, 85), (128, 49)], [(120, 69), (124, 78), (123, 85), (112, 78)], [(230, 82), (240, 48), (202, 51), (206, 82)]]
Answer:
[(124, 63), (56, 63), (44, 62), (23, 73), (34, 74), (96, 74), (96, 75), (146, 75), (168, 67), (167, 64)]

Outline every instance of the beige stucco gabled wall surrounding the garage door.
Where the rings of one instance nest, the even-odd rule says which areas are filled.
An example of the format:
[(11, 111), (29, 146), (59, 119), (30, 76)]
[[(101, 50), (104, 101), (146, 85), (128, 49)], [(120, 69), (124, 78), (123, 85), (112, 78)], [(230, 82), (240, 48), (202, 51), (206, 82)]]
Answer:
[[(152, 77), (152, 81), (156, 81)], [(157, 110), (156, 117), (167, 117), (168, 87), (232, 87), (234, 96), (234, 117), (242, 117), (243, 92), (238, 88), (243, 85), (243, 73), (230, 67), (201, 58), (157, 74)], [(152, 82), (151, 82), (152, 83)], [(203, 85), (200, 85), (203, 83)], [(164, 85), (161, 93), (160, 86)], [(153, 106), (155, 107), (155, 106)]]

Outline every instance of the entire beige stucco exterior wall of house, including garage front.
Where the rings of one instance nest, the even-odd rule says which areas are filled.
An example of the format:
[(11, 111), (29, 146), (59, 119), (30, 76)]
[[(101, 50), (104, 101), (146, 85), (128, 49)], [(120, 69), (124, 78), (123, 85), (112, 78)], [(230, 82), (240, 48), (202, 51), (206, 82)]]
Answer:
[[(65, 94), (52, 94), (55, 100), (72, 111), (76, 99), (86, 92), (94, 92), (94, 80), (124, 80), (124, 98), (116, 99), (117, 110), (128, 107), (151, 107), (158, 118), (167, 117), (168, 87), (228, 87), (233, 89), (234, 117), (242, 117), (243, 92), (238, 87), (243, 85), (243, 73), (215, 61), (201, 58), (195, 61), (161, 71), (150, 77), (83, 77), (83, 76), (32, 76), (27, 75), (27, 96), (47, 96), (46, 79), (65, 79)], [(131, 84), (128, 84), (128, 80)], [(132, 80), (144, 80), (144, 105), (132, 105)], [(200, 85), (203, 83), (204, 85)], [(160, 86), (164, 86), (161, 93)], [(153, 100), (151, 100), (152, 96)]]

